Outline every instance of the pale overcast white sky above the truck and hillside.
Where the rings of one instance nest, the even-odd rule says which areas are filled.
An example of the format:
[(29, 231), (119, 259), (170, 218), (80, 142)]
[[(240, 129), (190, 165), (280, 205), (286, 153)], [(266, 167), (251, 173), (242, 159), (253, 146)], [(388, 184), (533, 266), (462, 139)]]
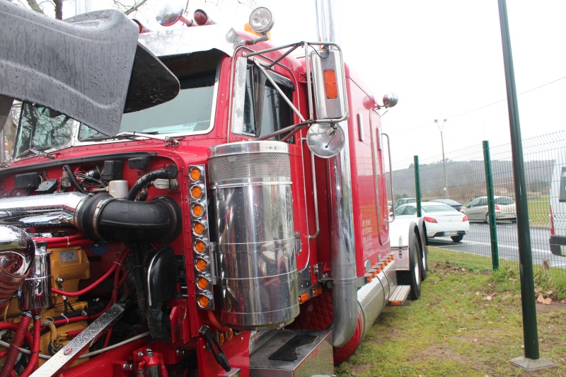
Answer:
[[(149, 0), (142, 8), (154, 29), (159, 26), (152, 25), (151, 13), (158, 2)], [(274, 13), (274, 42), (316, 40), (313, 0), (249, 2)], [(421, 161), (441, 155), (435, 119), (447, 120), (447, 157), (483, 140), (492, 146), (509, 142), (496, 0), (337, 3), (346, 62), (380, 102), (385, 93), (398, 94), (398, 105), (382, 118), (392, 138), (394, 163), (410, 161), (415, 154)], [(251, 8), (236, 4), (190, 0), (189, 11), (202, 7), (216, 21), (241, 28)], [(566, 129), (566, 1), (508, 1), (507, 11), (516, 89), (526, 92), (519, 95), (522, 136)]]

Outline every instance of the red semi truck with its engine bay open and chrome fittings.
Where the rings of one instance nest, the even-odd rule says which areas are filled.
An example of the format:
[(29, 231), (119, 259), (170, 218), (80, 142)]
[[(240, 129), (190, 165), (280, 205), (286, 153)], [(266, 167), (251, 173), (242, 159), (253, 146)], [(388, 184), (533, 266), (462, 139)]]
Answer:
[(273, 45), (266, 8), (158, 19), (190, 27), (0, 3), (0, 376), (330, 376), (426, 277), (387, 205), (396, 98), (324, 37)]

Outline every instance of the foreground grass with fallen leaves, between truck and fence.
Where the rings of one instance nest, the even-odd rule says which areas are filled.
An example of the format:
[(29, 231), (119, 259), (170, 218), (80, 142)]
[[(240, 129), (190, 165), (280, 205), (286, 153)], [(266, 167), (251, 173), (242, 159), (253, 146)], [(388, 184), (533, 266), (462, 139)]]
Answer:
[[(518, 274), (434, 254), (420, 300), (386, 307), (337, 376), (566, 376), (566, 303), (553, 293), (550, 305), (536, 304), (541, 357), (558, 368), (523, 371), (509, 364), (524, 355)], [(545, 272), (535, 285), (553, 284)]]

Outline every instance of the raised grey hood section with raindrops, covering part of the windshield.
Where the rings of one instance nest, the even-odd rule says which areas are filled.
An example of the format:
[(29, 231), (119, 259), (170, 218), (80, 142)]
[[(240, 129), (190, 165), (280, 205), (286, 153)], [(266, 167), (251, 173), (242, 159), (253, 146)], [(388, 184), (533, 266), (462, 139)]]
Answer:
[(115, 135), (122, 114), (175, 98), (179, 82), (120, 11), (59, 21), (0, 1), (0, 128), (13, 98)]

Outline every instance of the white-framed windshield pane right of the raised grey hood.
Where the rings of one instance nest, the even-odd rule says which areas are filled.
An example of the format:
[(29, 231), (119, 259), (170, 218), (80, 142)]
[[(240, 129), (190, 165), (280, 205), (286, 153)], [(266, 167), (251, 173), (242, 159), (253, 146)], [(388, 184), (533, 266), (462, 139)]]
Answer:
[[(219, 51), (210, 50), (163, 59), (179, 79), (179, 94), (154, 108), (124, 114), (118, 132), (183, 135), (208, 132), (212, 128), (214, 84), (220, 55)], [(79, 141), (105, 138), (106, 135), (81, 124)]]

